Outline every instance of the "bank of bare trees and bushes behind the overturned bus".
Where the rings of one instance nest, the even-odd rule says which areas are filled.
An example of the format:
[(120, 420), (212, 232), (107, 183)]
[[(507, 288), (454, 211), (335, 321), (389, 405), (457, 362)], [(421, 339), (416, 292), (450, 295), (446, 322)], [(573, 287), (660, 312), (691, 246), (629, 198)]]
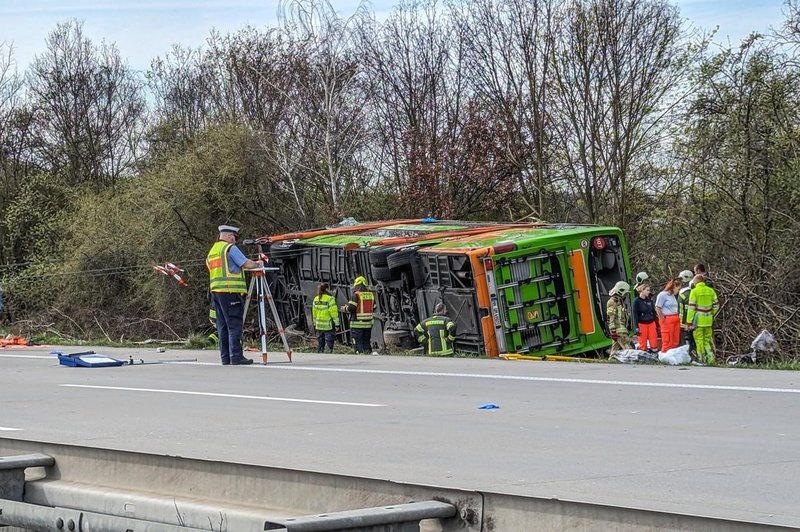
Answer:
[[(661, 0), (294, 0), (132, 70), (79, 21), (0, 44), (0, 286), (33, 338), (190, 339), (215, 228), (435, 216), (612, 224), (707, 264), (717, 345), (800, 361), (800, 2), (711, 44)], [(154, 264), (186, 270), (188, 287)]]

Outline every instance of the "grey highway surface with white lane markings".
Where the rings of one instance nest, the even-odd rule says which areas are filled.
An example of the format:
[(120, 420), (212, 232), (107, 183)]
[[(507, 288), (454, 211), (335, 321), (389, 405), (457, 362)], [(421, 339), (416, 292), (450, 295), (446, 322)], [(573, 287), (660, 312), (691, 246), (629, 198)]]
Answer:
[(0, 437), (800, 527), (797, 372), (52, 349), (0, 350)]

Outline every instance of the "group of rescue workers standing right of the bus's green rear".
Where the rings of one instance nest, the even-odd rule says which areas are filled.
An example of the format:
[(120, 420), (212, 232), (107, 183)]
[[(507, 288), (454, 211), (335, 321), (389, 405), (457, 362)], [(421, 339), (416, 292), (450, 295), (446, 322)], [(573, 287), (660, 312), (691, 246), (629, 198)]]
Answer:
[[(646, 272), (639, 272), (633, 291), (630, 322), (638, 349), (663, 352), (686, 341), (698, 362), (715, 362), (713, 325), (719, 301), (703, 264), (670, 279), (655, 299), (650, 277)], [(606, 320), (613, 340), (611, 356), (621, 349), (633, 348), (628, 329), (629, 292), (630, 285), (625, 281), (619, 281), (609, 291)]]

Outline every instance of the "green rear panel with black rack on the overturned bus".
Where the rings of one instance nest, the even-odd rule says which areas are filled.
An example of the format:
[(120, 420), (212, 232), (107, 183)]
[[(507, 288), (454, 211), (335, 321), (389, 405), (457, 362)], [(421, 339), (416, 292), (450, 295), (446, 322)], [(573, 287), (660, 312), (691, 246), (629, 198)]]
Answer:
[(580, 340), (566, 249), (493, 258), (506, 352), (560, 352)]

